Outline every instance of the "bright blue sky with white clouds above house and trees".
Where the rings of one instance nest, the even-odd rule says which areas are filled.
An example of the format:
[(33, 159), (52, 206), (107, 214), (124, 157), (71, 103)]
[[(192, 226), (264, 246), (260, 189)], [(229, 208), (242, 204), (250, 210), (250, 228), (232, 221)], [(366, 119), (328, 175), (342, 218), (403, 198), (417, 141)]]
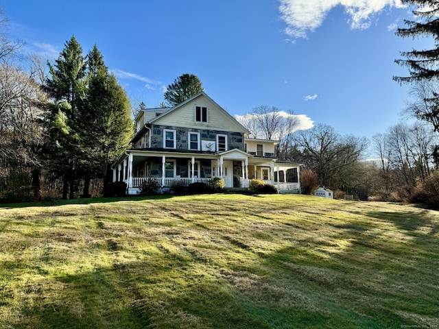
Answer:
[(158, 107), (183, 73), (232, 115), (294, 110), (370, 138), (401, 120), (407, 75), (399, 51), (428, 40), (395, 36), (414, 19), (396, 0), (0, 0), (12, 38), (58, 58), (74, 34), (97, 45), (133, 104)]

